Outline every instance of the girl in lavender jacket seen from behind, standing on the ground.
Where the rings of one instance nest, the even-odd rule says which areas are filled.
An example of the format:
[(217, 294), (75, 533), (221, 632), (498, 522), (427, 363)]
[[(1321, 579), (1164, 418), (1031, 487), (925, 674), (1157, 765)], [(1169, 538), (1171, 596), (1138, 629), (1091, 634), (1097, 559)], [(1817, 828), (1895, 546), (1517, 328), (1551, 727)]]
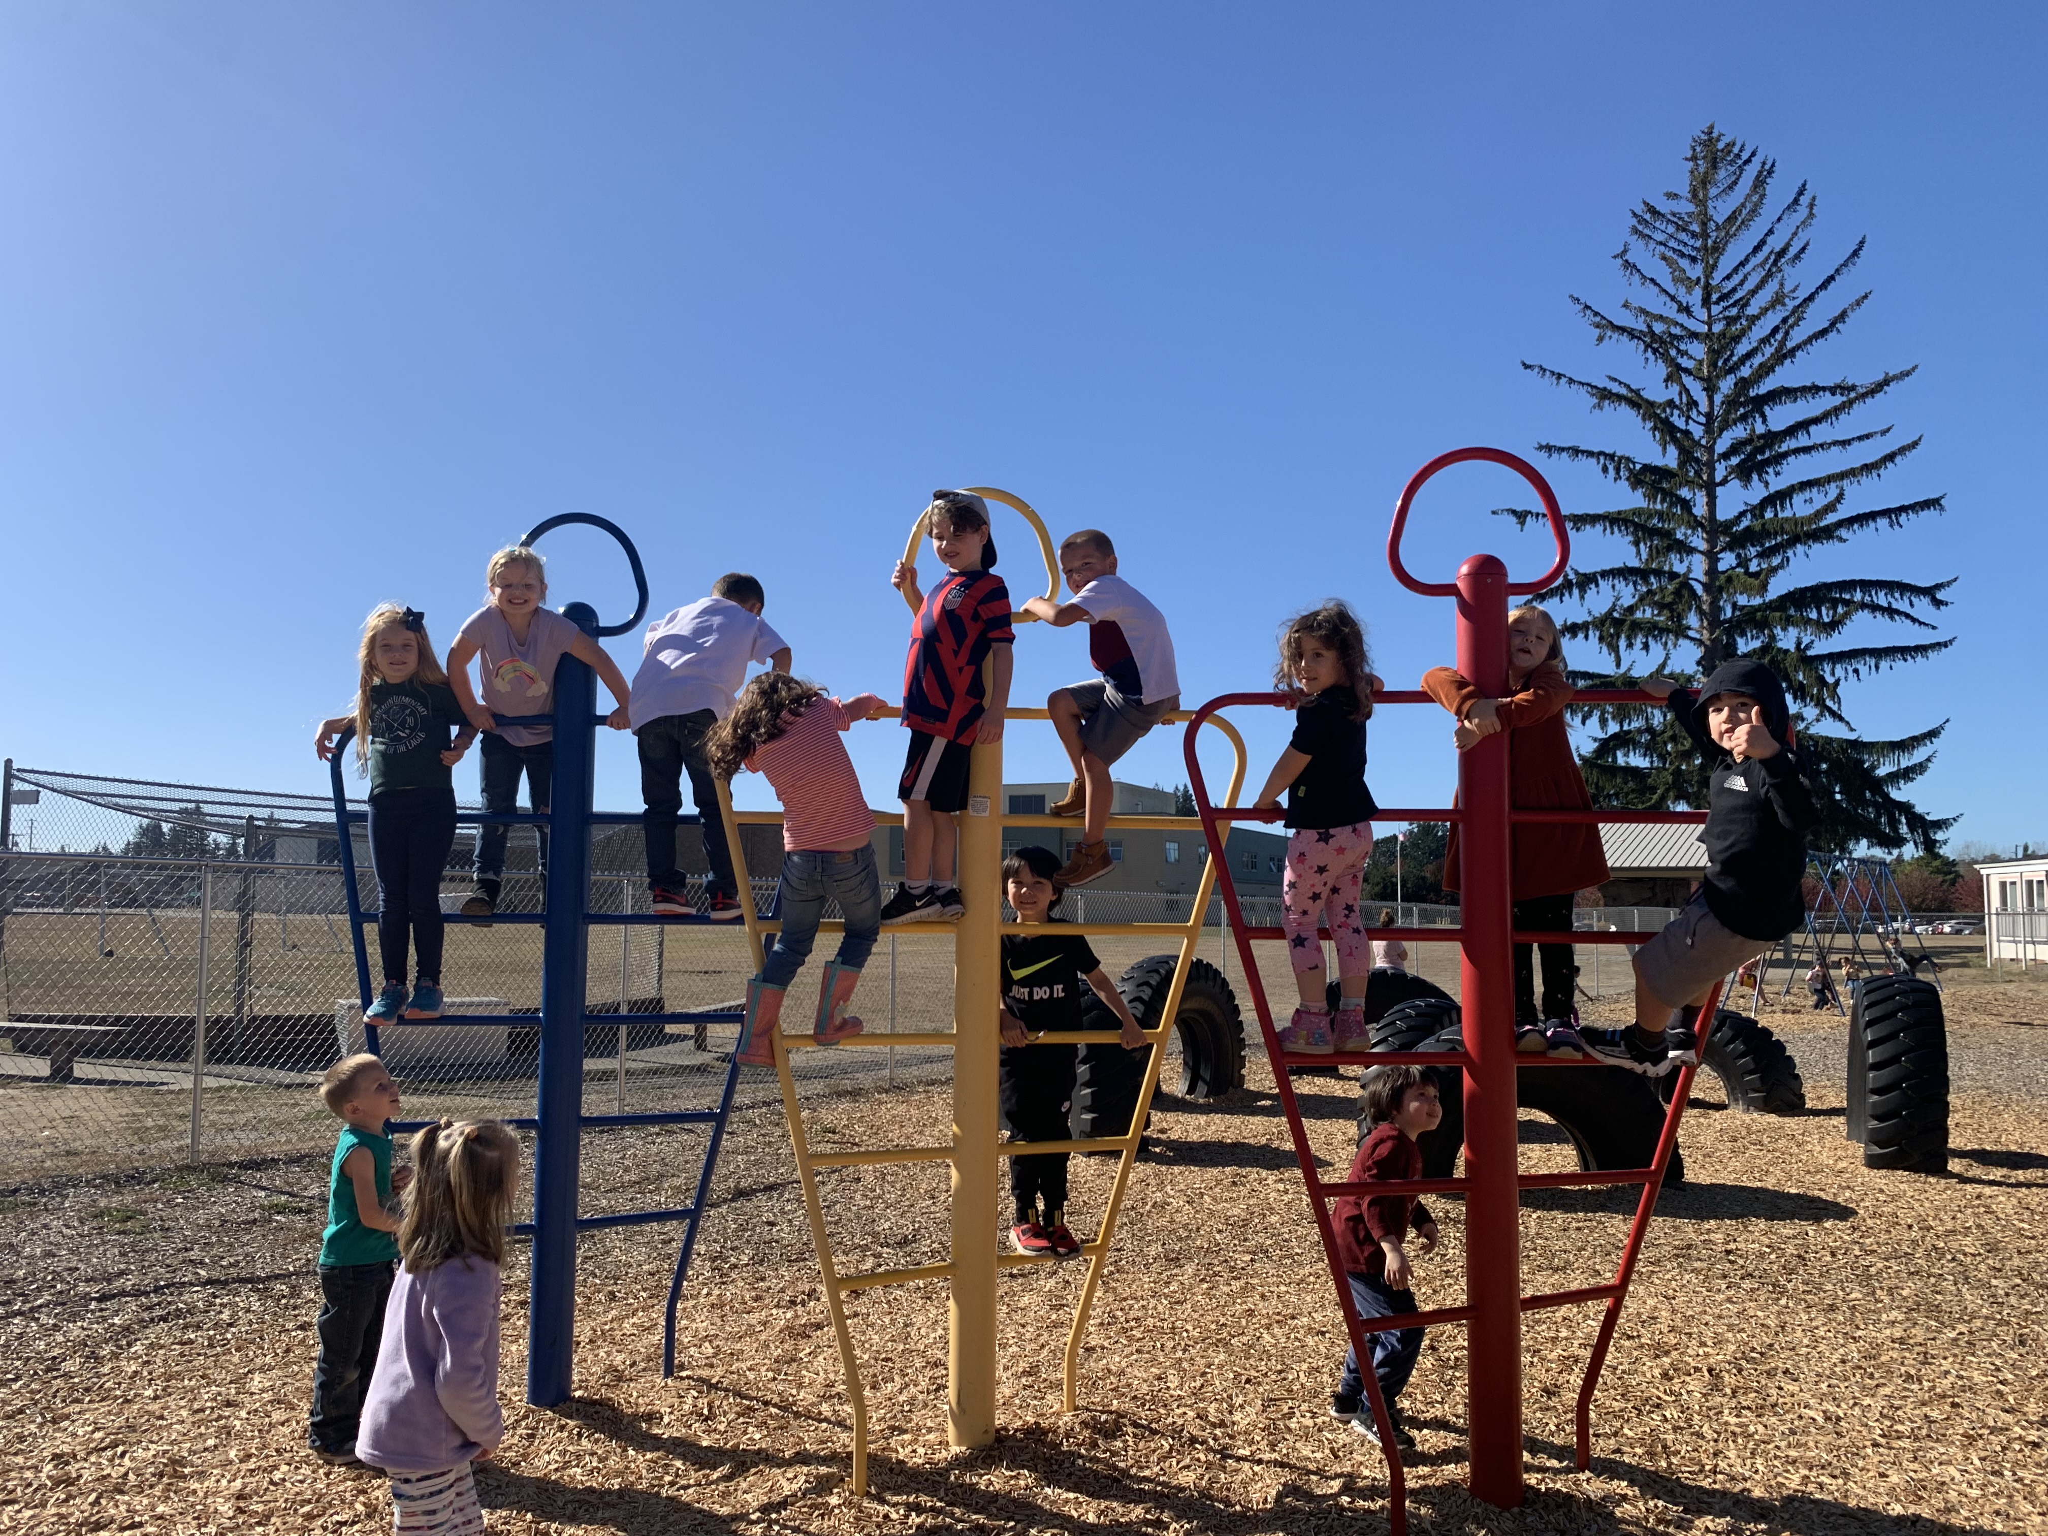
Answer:
[(395, 1528), (477, 1536), (469, 1464), (504, 1440), (498, 1296), (518, 1139), (496, 1120), (442, 1120), (412, 1139), (397, 1229), (403, 1260), (385, 1307), (356, 1456), (391, 1475)]

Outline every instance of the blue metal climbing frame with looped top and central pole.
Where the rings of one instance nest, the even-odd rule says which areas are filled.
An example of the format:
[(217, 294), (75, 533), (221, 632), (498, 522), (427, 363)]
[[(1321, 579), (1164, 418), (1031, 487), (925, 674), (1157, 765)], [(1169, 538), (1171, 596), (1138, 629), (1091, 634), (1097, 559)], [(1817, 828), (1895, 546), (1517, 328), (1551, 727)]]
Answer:
[[(600, 625), (590, 604), (571, 602), (561, 614), (578, 625), (586, 635), (625, 635), (647, 614), (647, 575), (641, 569), (639, 551), (612, 522), (588, 512), (567, 512), (549, 518), (520, 545), (532, 545), (549, 528), (565, 522), (586, 522), (602, 528), (618, 541), (633, 567), (633, 582), (639, 590), (639, 606), (623, 625)], [(500, 723), (508, 723), (500, 717)], [(498, 913), (494, 918), (449, 915), (451, 924), (541, 924), (541, 1073), (539, 1096), (532, 1116), (506, 1120), (516, 1130), (535, 1133), (535, 1178), (532, 1178), (532, 1221), (520, 1223), (512, 1231), (532, 1237), (532, 1307), (528, 1313), (526, 1348), (526, 1401), (537, 1407), (553, 1407), (569, 1397), (575, 1364), (575, 1235), (598, 1227), (641, 1227), (657, 1221), (682, 1223), (682, 1247), (676, 1253), (676, 1270), (670, 1276), (668, 1307), (662, 1327), (662, 1374), (676, 1368), (676, 1300), (682, 1294), (684, 1276), (690, 1272), (690, 1253), (696, 1247), (696, 1231), (702, 1221), (705, 1202), (711, 1196), (711, 1176), (719, 1163), (719, 1147), (725, 1141), (725, 1120), (733, 1108), (733, 1087), (739, 1079), (739, 1063), (725, 1069), (725, 1085), (719, 1092), (715, 1110), (657, 1110), (651, 1114), (584, 1114), (584, 1028), (625, 1024), (737, 1024), (743, 1016), (737, 1010), (682, 1012), (682, 1014), (592, 1014), (586, 1006), (584, 981), (590, 954), (590, 926), (702, 926), (709, 918), (657, 918), (653, 913), (600, 913), (590, 911), (590, 829), (600, 825), (637, 825), (639, 811), (594, 811), (592, 809), (592, 762), (596, 758), (596, 731), (604, 717), (596, 713), (596, 676), (575, 659), (563, 655), (555, 668), (555, 713), (520, 715), (520, 725), (555, 727), (555, 791), (553, 805), (545, 813), (487, 813), (457, 811), (463, 825), (545, 825), (549, 829), (547, 858), (547, 911), (545, 913)], [(352, 731), (344, 731), (330, 764), (334, 788), (334, 821), (340, 842), (342, 887), (348, 893), (348, 934), (356, 952), (356, 985), (362, 993), (362, 1008), (371, 1006), (371, 958), (362, 930), (377, 922), (375, 911), (365, 911), (356, 895), (356, 856), (350, 827), (369, 819), (367, 811), (348, 805), (342, 788), (342, 756)], [(680, 817), (684, 825), (696, 825), (696, 817)], [(625, 997), (618, 999), (625, 1008)], [(535, 1022), (532, 1014), (444, 1014), (434, 1024), (524, 1024)], [(381, 1055), (377, 1026), (365, 1028), (371, 1051)], [(401, 1120), (395, 1130), (416, 1130), (424, 1120)], [(664, 1126), (700, 1124), (711, 1128), (705, 1143), (705, 1165), (696, 1176), (696, 1194), (690, 1204), (668, 1210), (629, 1210), (608, 1217), (584, 1217), (578, 1210), (578, 1186), (582, 1171), (584, 1130), (612, 1130), (621, 1126)]]

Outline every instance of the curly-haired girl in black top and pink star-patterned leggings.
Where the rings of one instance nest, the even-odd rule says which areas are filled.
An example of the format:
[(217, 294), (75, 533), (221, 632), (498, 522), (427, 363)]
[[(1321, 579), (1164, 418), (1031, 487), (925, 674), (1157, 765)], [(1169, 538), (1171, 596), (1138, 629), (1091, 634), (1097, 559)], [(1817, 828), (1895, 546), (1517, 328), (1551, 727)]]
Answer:
[[(1331, 600), (1294, 618), (1280, 635), (1274, 686), (1294, 711), (1294, 735), (1255, 805), (1278, 805), (1286, 791), (1292, 836), (1280, 883), (1280, 926), (1300, 989), (1300, 1008), (1280, 1030), (1280, 1049), (1315, 1057), (1364, 1051), (1372, 948), (1362, 883), (1378, 809), (1366, 788), (1366, 721), (1380, 680), (1372, 676), (1358, 614)], [(1335, 1030), (1323, 979), (1323, 928), (1337, 942)]]

